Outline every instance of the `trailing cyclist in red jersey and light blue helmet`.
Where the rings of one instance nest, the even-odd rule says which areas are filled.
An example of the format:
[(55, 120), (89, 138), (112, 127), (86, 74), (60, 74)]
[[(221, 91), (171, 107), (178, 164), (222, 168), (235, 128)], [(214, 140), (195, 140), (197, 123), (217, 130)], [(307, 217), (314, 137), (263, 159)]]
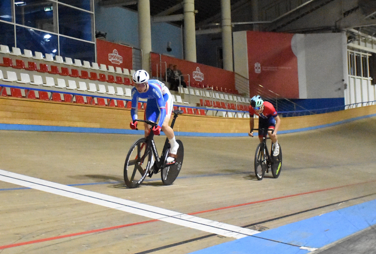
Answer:
[[(249, 106), (249, 127), (251, 130), (248, 135), (250, 137), (253, 137), (253, 128), (255, 127), (253, 116), (255, 114), (259, 116), (259, 129), (274, 129), (273, 134), (272, 131), (268, 131), (268, 135), (274, 144), (273, 156), (278, 156), (279, 145), (277, 132), (279, 125), (281, 124), (281, 119), (279, 118), (277, 111), (270, 102), (263, 101), (260, 95), (252, 97), (251, 105)], [(262, 137), (265, 135), (266, 133), (259, 130), (260, 143), (262, 142)]]

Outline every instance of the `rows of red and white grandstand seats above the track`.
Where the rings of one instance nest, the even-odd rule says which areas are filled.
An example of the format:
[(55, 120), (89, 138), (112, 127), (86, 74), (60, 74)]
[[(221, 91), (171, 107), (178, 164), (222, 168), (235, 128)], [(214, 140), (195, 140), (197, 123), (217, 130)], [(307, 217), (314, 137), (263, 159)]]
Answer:
[[(45, 54), (43, 57), (41, 52), (34, 52), (33, 56), (30, 50), (24, 50), (22, 55), (20, 49), (13, 47), (10, 52), (8, 46), (4, 45), (0, 46), (0, 53), (3, 54), (0, 55), (0, 60), (3, 59), (0, 63), (0, 80), (8, 82), (2, 83), (3, 85), (16, 86), (2, 87), (3, 96), (130, 107), (126, 100), (131, 97), (130, 76), (134, 70), (81, 62), (79, 59), (72, 61), (71, 58), (61, 56), (55, 56), (54, 60), (53, 55)], [(27, 67), (24, 59), (28, 61)], [(225, 110), (224, 112), (248, 111), (248, 105), (243, 104), (249, 103), (249, 98), (225, 93), (226, 89), (221, 90), (221, 87), (212, 87), (204, 82), (192, 81), (190, 85), (188, 88), (179, 88), (177, 94), (171, 91), (174, 107), (180, 107), (187, 114), (207, 115), (205, 108)], [(46, 91), (34, 91), (33, 87)], [(195, 108), (197, 105), (202, 108)], [(144, 109), (144, 103), (139, 103), (138, 108)], [(235, 112), (233, 115), (238, 116)]]

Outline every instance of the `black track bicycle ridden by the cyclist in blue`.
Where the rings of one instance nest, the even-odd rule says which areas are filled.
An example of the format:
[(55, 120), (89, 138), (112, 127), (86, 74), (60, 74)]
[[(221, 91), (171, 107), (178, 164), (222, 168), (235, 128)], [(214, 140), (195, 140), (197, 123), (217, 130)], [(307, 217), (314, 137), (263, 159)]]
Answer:
[[(182, 110), (174, 110), (173, 119), (171, 122), (171, 128), (175, 123), (176, 117), (182, 114)], [(134, 120), (138, 122), (144, 122), (151, 125), (151, 128), (157, 125), (154, 122), (148, 120)], [(153, 174), (161, 172), (161, 178), (164, 185), (170, 185), (176, 179), (180, 172), (181, 165), (183, 164), (184, 147), (180, 140), (176, 140), (179, 144), (177, 149), (177, 158), (172, 164), (167, 164), (166, 159), (170, 150), (170, 144), (168, 138), (164, 142), (162, 154), (158, 155), (154, 142), (154, 133), (149, 130), (149, 134), (146, 138), (140, 138), (133, 143), (124, 163), (124, 181), (128, 188), (138, 187), (146, 176), (151, 177)], [(154, 156), (154, 164), (151, 164), (151, 157)]]

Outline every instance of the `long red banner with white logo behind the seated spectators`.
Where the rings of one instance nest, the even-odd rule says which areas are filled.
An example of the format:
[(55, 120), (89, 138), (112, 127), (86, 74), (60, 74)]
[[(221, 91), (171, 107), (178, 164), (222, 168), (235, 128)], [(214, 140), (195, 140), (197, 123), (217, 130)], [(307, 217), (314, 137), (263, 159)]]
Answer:
[[(177, 59), (173, 57), (168, 57), (164, 55), (159, 55), (156, 53), (150, 53), (151, 58), (151, 72), (153, 77), (164, 78), (166, 67), (169, 64), (176, 65), (183, 75), (189, 74), (191, 85), (192, 81), (196, 83), (201, 83), (206, 86), (222, 87), (223, 90), (226, 88), (227, 91), (235, 91), (235, 73), (226, 71), (223, 69), (215, 68), (208, 65), (198, 64), (182, 59)], [(158, 75), (157, 75), (158, 66)], [(162, 73), (162, 75), (160, 75)], [(188, 77), (184, 77), (184, 81), (188, 82)]]

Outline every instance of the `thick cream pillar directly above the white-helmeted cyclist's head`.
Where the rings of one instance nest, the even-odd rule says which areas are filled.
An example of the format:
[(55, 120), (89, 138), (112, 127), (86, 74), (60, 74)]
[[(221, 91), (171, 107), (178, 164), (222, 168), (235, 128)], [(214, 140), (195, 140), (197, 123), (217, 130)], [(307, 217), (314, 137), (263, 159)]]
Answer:
[(142, 50), (142, 68), (150, 73), (151, 27), (149, 0), (138, 0), (138, 40)]

